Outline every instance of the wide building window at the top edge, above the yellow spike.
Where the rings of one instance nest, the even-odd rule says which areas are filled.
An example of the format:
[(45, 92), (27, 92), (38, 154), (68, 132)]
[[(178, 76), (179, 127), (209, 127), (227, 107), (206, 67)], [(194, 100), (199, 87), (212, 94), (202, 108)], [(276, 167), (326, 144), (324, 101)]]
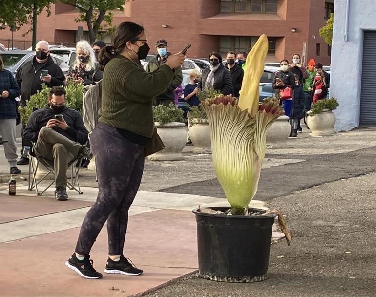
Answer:
[(221, 12), (277, 13), (278, 0), (221, 0)]

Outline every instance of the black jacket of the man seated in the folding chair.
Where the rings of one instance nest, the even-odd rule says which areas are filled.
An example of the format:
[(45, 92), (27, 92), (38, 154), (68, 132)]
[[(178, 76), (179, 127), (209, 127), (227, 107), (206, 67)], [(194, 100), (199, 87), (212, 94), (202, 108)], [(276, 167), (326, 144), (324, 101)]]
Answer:
[[(53, 127), (53, 129), (70, 140), (84, 145), (88, 140), (88, 136), (81, 114), (77, 110), (68, 107), (65, 107), (61, 114), (68, 124), (69, 129), (66, 131), (59, 127)], [(48, 105), (34, 111), (27, 121), (22, 139), (30, 139), (33, 142), (37, 142), (39, 131), (47, 125), (48, 120), (54, 117), (55, 114)]]

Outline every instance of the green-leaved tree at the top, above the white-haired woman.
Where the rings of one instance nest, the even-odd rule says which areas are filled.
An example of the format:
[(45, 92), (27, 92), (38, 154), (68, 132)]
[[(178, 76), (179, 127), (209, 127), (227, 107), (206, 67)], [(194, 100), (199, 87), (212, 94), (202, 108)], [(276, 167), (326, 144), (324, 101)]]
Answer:
[(125, 0), (61, 0), (64, 4), (72, 5), (79, 10), (77, 22), (84, 21), (89, 30), (89, 42), (93, 43), (97, 35), (111, 33), (113, 13), (111, 10), (124, 9)]

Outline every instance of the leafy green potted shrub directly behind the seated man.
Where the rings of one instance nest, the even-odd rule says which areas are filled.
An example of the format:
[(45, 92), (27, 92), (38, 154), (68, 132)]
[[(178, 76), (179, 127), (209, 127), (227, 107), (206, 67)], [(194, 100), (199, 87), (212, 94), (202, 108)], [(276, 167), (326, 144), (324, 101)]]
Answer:
[[(82, 96), (84, 93), (83, 84), (69, 84), (64, 87), (66, 91), (65, 104), (69, 108), (73, 108), (82, 113)], [(42, 90), (38, 90), (36, 94), (30, 96), (30, 99), (26, 102), (26, 106), (19, 106), (21, 121), (26, 125), (31, 113), (34, 110), (44, 108), (47, 104), (50, 88), (43, 83)], [(47, 173), (47, 169), (39, 164), (37, 170), (37, 178), (41, 178)], [(70, 176), (70, 169), (67, 170), (68, 176)], [(48, 177), (47, 177), (48, 178)], [(53, 178), (53, 174), (50, 174), (50, 178)]]

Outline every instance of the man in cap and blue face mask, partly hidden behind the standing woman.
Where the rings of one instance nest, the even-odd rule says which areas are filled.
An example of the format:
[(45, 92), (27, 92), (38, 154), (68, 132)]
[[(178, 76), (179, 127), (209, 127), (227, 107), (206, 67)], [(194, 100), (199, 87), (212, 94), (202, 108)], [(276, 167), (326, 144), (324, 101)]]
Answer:
[[(166, 63), (168, 56), (171, 55), (167, 51), (167, 41), (164, 39), (157, 40), (155, 42), (155, 49), (157, 51), (157, 56), (149, 61), (146, 66), (146, 72), (154, 72), (159, 66)], [(171, 102), (174, 102), (174, 90), (183, 81), (182, 68), (178, 67), (174, 70), (174, 77), (171, 84), (167, 87), (166, 91), (155, 97), (154, 105), (166, 105), (168, 106)]]

